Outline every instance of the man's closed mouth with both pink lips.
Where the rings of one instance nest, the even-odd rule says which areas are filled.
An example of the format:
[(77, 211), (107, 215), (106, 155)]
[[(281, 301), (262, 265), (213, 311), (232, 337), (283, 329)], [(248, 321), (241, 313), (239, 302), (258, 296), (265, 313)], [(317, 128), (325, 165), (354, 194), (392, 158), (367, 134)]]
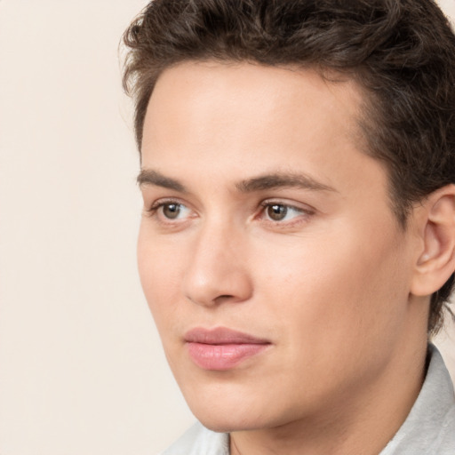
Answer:
[(267, 339), (225, 327), (196, 328), (185, 334), (191, 360), (203, 370), (226, 371), (271, 346)]

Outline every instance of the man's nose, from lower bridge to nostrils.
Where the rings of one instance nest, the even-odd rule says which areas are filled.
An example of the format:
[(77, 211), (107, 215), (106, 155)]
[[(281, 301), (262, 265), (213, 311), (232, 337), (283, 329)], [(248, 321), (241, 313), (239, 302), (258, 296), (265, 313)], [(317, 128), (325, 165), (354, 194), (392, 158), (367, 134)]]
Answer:
[(251, 298), (243, 235), (232, 228), (203, 228), (196, 236), (183, 279), (187, 299), (205, 307)]

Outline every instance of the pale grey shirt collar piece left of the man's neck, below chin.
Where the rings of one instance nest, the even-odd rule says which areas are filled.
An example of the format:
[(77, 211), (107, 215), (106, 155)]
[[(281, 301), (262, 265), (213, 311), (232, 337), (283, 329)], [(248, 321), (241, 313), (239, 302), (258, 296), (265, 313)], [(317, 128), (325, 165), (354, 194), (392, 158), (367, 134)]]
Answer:
[(160, 455), (229, 455), (229, 436), (196, 423)]

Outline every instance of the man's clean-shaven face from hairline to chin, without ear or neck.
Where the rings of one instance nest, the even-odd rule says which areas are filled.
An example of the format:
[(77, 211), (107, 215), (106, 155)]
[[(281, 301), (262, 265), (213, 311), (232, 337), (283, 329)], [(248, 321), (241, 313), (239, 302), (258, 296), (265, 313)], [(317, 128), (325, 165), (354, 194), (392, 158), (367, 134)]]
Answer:
[(186, 62), (148, 106), (140, 278), (172, 372), (219, 431), (355, 406), (406, 333), (411, 237), (311, 70)]

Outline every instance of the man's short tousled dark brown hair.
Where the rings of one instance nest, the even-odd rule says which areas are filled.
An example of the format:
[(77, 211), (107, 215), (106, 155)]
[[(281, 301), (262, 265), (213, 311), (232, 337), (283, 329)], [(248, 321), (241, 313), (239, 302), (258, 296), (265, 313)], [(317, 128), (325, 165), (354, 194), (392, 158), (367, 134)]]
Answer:
[[(297, 65), (367, 93), (367, 153), (387, 166), (403, 228), (413, 204), (455, 182), (455, 36), (433, 0), (154, 0), (124, 33), (138, 147), (158, 76), (185, 60)], [(431, 298), (443, 320), (454, 275)]]

